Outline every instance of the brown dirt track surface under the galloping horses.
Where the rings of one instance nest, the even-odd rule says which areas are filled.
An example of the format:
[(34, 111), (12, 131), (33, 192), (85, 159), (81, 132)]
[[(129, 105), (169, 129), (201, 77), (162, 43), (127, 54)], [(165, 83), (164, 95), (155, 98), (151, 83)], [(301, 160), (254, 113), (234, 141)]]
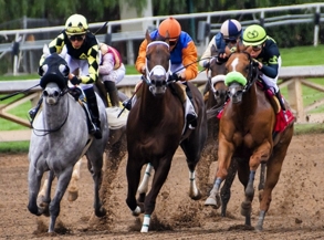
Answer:
[[(27, 154), (0, 154), (0, 239), (323, 239), (323, 138), (320, 134), (293, 137), (262, 232), (243, 226), (244, 219), (240, 215), (243, 189), (238, 179), (232, 187), (226, 218), (220, 217), (219, 209), (203, 206), (206, 196), (199, 201), (190, 200), (188, 169), (179, 149), (157, 198), (148, 233), (139, 232), (143, 216), (133, 217), (125, 204), (125, 156), (105, 167), (102, 196), (106, 217), (93, 216), (93, 180), (83, 159), (79, 199), (69, 202), (64, 196), (56, 222), (58, 233), (49, 234), (49, 218), (33, 216), (27, 209)], [(212, 182), (215, 168), (216, 163), (209, 167), (205, 159), (198, 167), (198, 185), (205, 186), (201, 187), (205, 195), (206, 186)], [(258, 220), (258, 205), (254, 197), (252, 225)]]

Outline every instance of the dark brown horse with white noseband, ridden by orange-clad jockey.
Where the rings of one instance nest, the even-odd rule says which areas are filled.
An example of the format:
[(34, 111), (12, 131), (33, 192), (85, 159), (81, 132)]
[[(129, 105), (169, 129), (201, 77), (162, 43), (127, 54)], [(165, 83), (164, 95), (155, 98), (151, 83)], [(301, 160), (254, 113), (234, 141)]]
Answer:
[[(168, 81), (170, 75), (169, 41), (153, 41), (146, 32), (146, 76), (138, 88), (137, 101), (132, 107), (127, 124), (127, 198), (126, 202), (134, 216), (144, 212), (140, 232), (148, 232), (150, 216), (155, 209), (156, 198), (161, 189), (173, 157), (180, 145), (189, 168), (189, 197), (201, 198), (196, 186), (196, 165), (200, 159), (207, 137), (206, 108), (202, 94), (188, 82), (195, 108), (198, 114), (195, 129), (186, 127), (182, 103), (182, 84)], [(175, 93), (177, 92), (177, 94)], [(185, 133), (184, 133), (185, 132)], [(155, 170), (151, 188), (143, 198), (136, 200), (136, 191), (140, 180), (140, 170), (149, 164)]]

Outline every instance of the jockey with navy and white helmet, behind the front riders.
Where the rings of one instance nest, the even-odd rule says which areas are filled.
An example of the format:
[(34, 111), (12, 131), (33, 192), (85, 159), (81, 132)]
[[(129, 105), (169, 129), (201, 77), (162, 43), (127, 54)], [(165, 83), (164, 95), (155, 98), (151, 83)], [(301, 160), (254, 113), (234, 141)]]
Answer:
[(234, 19), (226, 20), (220, 28), (220, 32), (218, 32), (209, 42), (207, 49), (202, 53), (200, 58), (199, 64), (207, 69), (209, 67), (210, 62), (210, 50), (211, 46), (215, 45), (218, 50), (217, 63), (222, 64), (228, 60), (226, 55), (226, 48), (232, 49), (237, 46), (237, 43), (242, 44), (242, 27), (241, 23)]

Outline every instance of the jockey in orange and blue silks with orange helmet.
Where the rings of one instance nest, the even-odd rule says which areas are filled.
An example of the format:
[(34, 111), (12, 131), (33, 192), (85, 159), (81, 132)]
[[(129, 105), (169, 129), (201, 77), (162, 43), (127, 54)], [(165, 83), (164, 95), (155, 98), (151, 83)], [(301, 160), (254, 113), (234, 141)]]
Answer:
[[(181, 31), (180, 23), (173, 17), (165, 19), (159, 24), (158, 30), (150, 32), (150, 39), (156, 40), (158, 36), (166, 38), (167, 34), (169, 34), (173, 79), (181, 81), (187, 86), (187, 101), (185, 102), (186, 118), (189, 126), (194, 128), (197, 125), (197, 114), (192, 105), (192, 95), (187, 85), (187, 81), (194, 80), (198, 75), (198, 65), (196, 64), (198, 59), (197, 49), (191, 36), (187, 32)], [(136, 70), (144, 75), (146, 74), (146, 46), (147, 40), (144, 40), (139, 46), (135, 64)], [(184, 66), (186, 67), (184, 69)], [(124, 103), (124, 105), (129, 106), (128, 103)]]

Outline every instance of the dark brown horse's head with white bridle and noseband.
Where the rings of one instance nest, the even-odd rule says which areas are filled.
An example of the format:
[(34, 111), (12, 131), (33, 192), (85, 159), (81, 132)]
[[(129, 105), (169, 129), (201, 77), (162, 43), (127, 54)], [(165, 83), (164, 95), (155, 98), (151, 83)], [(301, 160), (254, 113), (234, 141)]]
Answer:
[(146, 32), (146, 83), (153, 95), (161, 95), (166, 92), (167, 81), (170, 74), (170, 53), (168, 39), (153, 41)]

